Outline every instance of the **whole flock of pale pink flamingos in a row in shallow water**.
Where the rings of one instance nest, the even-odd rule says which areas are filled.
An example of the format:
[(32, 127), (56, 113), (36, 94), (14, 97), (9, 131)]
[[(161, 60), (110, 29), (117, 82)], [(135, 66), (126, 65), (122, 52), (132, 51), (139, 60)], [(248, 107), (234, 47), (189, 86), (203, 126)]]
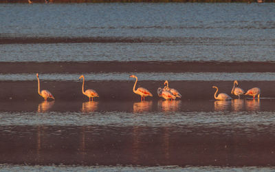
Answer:
[[(135, 78), (135, 84), (133, 85), (133, 92), (135, 94), (138, 94), (141, 96), (141, 101), (145, 100), (146, 96), (153, 96), (153, 94), (151, 94), (151, 92), (149, 92), (148, 89), (146, 89), (144, 87), (138, 87), (137, 89), (135, 89), (135, 85), (137, 85), (137, 76), (131, 75), (130, 77)], [(47, 90), (40, 91), (39, 74), (36, 74), (36, 78), (38, 81), (39, 95), (42, 96), (45, 99), (45, 101), (47, 101), (47, 98), (54, 99), (54, 96), (52, 96), (52, 94), (49, 91), (47, 91)], [(86, 89), (86, 91), (84, 91), (84, 83), (85, 83), (84, 76), (81, 75), (79, 77), (79, 80), (82, 78), (83, 78), (82, 92), (85, 96), (89, 97), (89, 101), (93, 101), (94, 97), (99, 97), (98, 93), (94, 89)], [(164, 88), (159, 87), (157, 89), (157, 95), (159, 97), (162, 97), (166, 100), (175, 100), (176, 98), (181, 98), (181, 94), (179, 94), (179, 92), (176, 89), (170, 88), (168, 86), (168, 80), (165, 80), (164, 85), (165, 85)], [(249, 89), (248, 92), (245, 93), (243, 91), (243, 89), (236, 87), (236, 85), (239, 85), (239, 83), (238, 83), (238, 81), (234, 80), (231, 94), (234, 94), (234, 95), (238, 96), (239, 98), (241, 95), (253, 96), (253, 99), (255, 98), (255, 96), (258, 96), (258, 99), (260, 98), (261, 89), (259, 89), (258, 87)], [(218, 87), (216, 87), (216, 86), (212, 86), (212, 87), (217, 89), (216, 92), (214, 93), (214, 98), (216, 100), (231, 100), (232, 99), (230, 96), (228, 96), (228, 94), (225, 94), (225, 93), (220, 93), (217, 96), (217, 92), (219, 91)]]

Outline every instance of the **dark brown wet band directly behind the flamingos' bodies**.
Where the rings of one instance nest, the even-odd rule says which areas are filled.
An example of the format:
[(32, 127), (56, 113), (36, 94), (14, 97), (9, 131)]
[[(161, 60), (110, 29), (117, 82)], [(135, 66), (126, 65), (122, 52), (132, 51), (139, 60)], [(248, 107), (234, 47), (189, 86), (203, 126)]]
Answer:
[[(95, 89), (99, 94), (100, 101), (140, 101), (140, 96), (133, 93), (134, 80), (130, 81), (87, 81), (85, 89)], [(164, 81), (142, 80), (137, 82), (137, 87), (145, 87), (153, 97), (146, 97), (145, 100), (159, 100), (157, 88), (164, 87)], [(248, 90), (252, 87), (261, 88), (262, 98), (275, 98), (273, 81), (242, 81), (239, 80), (241, 88)], [(226, 93), (232, 98), (236, 96), (230, 94), (232, 81), (170, 81), (169, 86), (181, 93), (181, 100), (214, 100), (216, 89), (212, 85), (219, 87), (219, 93)], [(37, 93), (37, 81), (0, 81), (1, 102), (12, 101), (36, 101), (43, 100)], [(83, 95), (82, 82), (74, 81), (46, 81), (41, 80), (41, 90), (49, 90), (56, 101), (87, 101), (87, 96)], [(248, 96), (248, 98), (252, 98)]]

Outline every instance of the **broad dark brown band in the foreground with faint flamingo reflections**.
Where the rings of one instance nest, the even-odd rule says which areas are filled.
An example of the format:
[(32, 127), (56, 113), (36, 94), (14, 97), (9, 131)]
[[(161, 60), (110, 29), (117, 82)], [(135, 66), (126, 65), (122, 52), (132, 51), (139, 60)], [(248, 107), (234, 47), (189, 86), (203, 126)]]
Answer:
[(188, 125), (1, 126), (0, 163), (274, 166), (274, 133), (257, 129), (251, 136), (244, 133), (242, 129)]

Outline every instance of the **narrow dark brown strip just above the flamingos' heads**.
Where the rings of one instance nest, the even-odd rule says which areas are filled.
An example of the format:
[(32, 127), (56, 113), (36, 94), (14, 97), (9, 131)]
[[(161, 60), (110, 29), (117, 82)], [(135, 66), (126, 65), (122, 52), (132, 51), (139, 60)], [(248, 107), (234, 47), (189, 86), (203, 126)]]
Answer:
[(275, 72), (273, 62), (87, 61), (0, 62), (1, 74), (89, 72)]

